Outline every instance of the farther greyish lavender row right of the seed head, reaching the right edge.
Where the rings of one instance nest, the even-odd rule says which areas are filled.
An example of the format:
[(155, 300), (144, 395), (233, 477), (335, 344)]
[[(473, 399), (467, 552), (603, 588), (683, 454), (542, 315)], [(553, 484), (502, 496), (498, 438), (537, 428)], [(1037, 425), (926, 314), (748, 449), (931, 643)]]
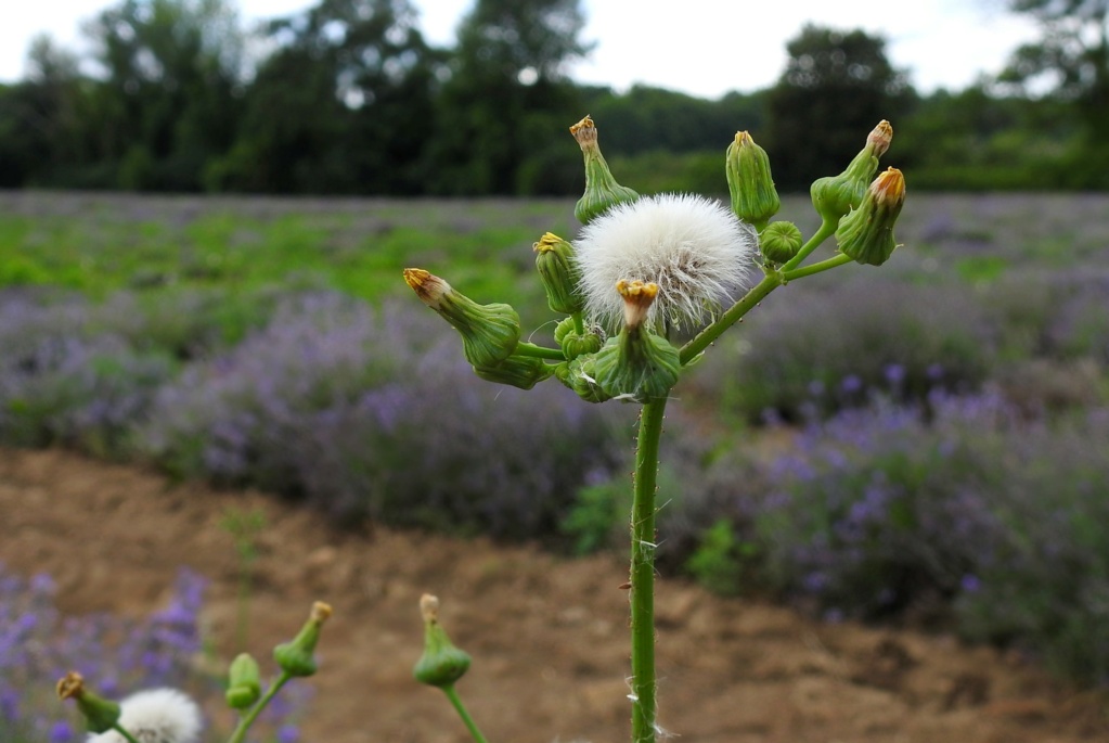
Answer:
[[(987, 380), (1031, 408), (1105, 400), (1109, 272), (1013, 271), (967, 285), (933, 267), (912, 275), (821, 278), (785, 289), (693, 377), (699, 394), (746, 421), (801, 421)], [(865, 285), (862, 283), (865, 279)]]

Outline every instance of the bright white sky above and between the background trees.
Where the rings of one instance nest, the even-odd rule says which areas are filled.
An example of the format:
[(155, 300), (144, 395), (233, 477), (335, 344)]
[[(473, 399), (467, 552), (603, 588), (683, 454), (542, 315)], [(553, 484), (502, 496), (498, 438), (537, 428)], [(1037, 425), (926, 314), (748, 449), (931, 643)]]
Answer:
[[(116, 0), (118, 1), (118, 0)], [(472, 0), (413, 0), (420, 28), (447, 44)], [(0, 80), (23, 74), (31, 39), (50, 33), (75, 48), (82, 20), (113, 0), (0, 0)], [(238, 0), (244, 21), (281, 16), (314, 0)], [(625, 90), (644, 83), (702, 98), (767, 88), (785, 67), (785, 42), (805, 22), (881, 33), (895, 67), (928, 93), (959, 90), (996, 73), (1035, 26), (1005, 12), (1004, 0), (583, 0), (583, 39), (593, 52), (571, 74)]]

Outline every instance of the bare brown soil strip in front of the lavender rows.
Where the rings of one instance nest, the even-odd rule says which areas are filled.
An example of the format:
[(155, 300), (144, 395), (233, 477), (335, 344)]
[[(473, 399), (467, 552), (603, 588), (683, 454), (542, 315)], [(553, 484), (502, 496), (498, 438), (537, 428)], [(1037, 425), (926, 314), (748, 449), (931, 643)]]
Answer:
[[(425, 591), (441, 598), (444, 623), (475, 657), (459, 690), (490, 741), (628, 739), (627, 569), (615, 558), (337, 531), (256, 492), (173, 486), (60, 451), (0, 450), (0, 560), (51, 573), (68, 612), (146, 613), (190, 566), (212, 581), (204, 620), (226, 645), (238, 563), (218, 521), (230, 507), (262, 509), (267, 525), (252, 651), (267, 657), (314, 599), (335, 607), (306, 740), (468, 740), (441, 694), (411, 679)], [(1105, 693), (1068, 688), (1011, 654), (821, 624), (675, 580), (659, 587), (658, 648), (661, 723), (684, 741), (1109, 740)]]

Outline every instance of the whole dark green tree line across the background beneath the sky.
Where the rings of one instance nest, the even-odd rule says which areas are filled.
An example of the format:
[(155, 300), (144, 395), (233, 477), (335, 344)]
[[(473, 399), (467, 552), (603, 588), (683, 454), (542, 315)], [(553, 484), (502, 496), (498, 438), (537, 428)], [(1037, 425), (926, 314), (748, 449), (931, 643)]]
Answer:
[(882, 38), (806, 26), (773, 86), (719, 100), (576, 84), (579, 0), (476, 0), (451, 48), (408, 0), (321, 0), (250, 31), (231, 2), (121, 0), (83, 57), (37, 39), (0, 85), (0, 186), (566, 195), (582, 174), (560, 135), (590, 113), (643, 191), (722, 190), (736, 130), (802, 191), (881, 119), (914, 187), (1109, 187), (1109, 0), (1014, 0), (1042, 40), (963, 91), (920, 95)]

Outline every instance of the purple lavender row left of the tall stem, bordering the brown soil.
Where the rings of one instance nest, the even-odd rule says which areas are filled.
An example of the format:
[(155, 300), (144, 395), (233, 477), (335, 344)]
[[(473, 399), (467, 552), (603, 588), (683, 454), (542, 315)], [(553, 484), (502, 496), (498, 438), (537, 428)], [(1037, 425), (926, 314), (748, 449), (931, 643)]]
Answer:
[[(179, 302), (187, 318), (193, 299)], [(334, 292), (272, 306), (232, 343), (211, 317), (167, 332), (164, 307), (152, 317), (126, 296), (6, 295), (0, 438), (153, 458), (342, 519), (513, 538), (553, 533), (580, 484), (618, 459), (620, 411), (556, 385), (484, 384), (423, 308)]]

